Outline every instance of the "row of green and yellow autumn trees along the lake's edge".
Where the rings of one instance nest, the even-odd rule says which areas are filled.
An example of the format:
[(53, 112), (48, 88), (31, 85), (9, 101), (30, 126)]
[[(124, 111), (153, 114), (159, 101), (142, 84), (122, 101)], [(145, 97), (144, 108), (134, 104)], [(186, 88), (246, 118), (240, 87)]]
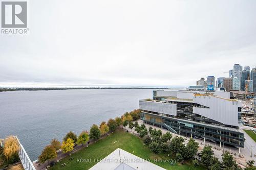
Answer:
[[(84, 145), (88, 143), (90, 139), (97, 140), (102, 135), (113, 132), (121, 126), (126, 127), (129, 123), (140, 118), (140, 110), (133, 110), (131, 112), (124, 113), (121, 117), (115, 119), (110, 118), (108, 122), (101, 122), (99, 126), (93, 124), (90, 131), (82, 131), (77, 137), (72, 131), (68, 132), (63, 138), (62, 143), (56, 138), (51, 140), (51, 143), (42, 150), (38, 161), (45, 163), (57, 157), (57, 152), (62, 150), (63, 153), (71, 153), (74, 150), (75, 145)], [(89, 143), (88, 143), (89, 144)]]

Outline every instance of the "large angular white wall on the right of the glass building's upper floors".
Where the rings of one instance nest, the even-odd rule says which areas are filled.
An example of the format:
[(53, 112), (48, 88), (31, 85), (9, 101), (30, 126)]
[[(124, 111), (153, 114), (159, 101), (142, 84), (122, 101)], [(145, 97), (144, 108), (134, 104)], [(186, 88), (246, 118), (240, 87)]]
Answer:
[(194, 103), (209, 107), (193, 107), (193, 113), (216, 120), (225, 125), (239, 126), (238, 124), (238, 107), (242, 103), (230, 101), (215, 96), (194, 96)]

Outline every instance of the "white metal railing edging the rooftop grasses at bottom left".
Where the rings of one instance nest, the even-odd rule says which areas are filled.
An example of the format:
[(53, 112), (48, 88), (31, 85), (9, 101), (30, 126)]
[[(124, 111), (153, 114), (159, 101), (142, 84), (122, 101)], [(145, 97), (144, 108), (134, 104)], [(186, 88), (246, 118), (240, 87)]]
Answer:
[[(25, 170), (36, 170), (33, 163), (31, 162), (27, 152), (23, 148), (22, 143), (19, 142), (17, 136), (12, 136), (12, 137), (16, 138), (17, 141), (18, 141), (18, 144), (19, 144), (18, 156), (19, 156), (20, 162), (22, 162), (22, 165), (23, 165), (24, 169)], [(8, 138), (2, 139), (0, 141), (5, 141), (6, 139), (9, 139), (9, 138), (12, 138), (12, 137), (8, 137)]]

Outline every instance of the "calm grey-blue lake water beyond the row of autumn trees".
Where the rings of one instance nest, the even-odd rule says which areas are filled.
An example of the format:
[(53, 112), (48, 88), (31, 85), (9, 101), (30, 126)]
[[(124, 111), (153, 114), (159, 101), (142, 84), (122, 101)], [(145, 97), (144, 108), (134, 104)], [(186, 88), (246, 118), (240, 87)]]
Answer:
[(152, 89), (85, 89), (0, 92), (0, 138), (17, 135), (36, 160), (52, 138), (77, 135), (139, 107)]

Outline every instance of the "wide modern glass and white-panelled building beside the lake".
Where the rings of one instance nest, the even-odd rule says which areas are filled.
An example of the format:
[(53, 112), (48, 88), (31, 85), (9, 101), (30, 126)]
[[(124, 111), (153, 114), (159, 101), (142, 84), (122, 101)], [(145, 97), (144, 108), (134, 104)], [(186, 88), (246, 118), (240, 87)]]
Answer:
[(223, 98), (229, 92), (153, 91), (153, 100), (140, 100), (146, 124), (187, 137), (244, 147), (240, 132), (242, 103)]

